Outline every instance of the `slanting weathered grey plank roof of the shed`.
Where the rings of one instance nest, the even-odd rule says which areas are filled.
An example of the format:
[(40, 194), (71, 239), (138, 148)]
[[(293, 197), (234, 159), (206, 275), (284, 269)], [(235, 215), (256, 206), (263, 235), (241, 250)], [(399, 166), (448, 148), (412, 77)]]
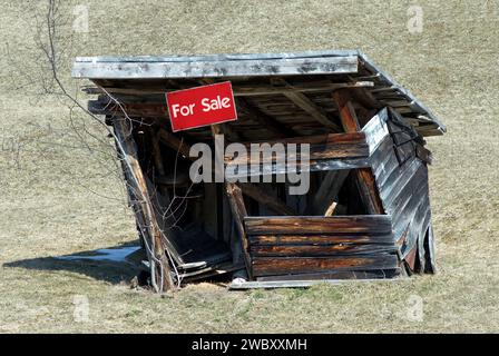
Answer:
[[(364, 89), (365, 100), (378, 102), (379, 107), (390, 106), (411, 125), (417, 126), (421, 136), (441, 135), (446, 127), (409, 90), (402, 88), (385, 72), (380, 70), (361, 51), (306, 51), (292, 53), (254, 55), (209, 55), (170, 57), (79, 57), (72, 76), (92, 81), (110, 83), (128, 80), (168, 80), (177, 82), (190, 79), (218, 78), (244, 82), (254, 78), (295, 78), (340, 76)], [(280, 86), (282, 83), (278, 83)], [(334, 86), (334, 83), (332, 83)], [(261, 87), (261, 90), (264, 89)], [(268, 88), (268, 93), (277, 90)], [(321, 88), (302, 88), (304, 92)], [(324, 88), (322, 88), (324, 89)], [(325, 88), (327, 89), (327, 88)], [(330, 89), (334, 89), (331, 87)], [(245, 88), (234, 86), (235, 96), (250, 96)], [(111, 90), (109, 90), (111, 92)]]

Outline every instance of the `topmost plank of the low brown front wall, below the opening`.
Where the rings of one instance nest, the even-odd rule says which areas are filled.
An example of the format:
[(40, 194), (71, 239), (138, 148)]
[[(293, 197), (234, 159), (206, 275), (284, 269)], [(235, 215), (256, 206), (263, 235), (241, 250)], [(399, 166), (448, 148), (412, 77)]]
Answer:
[(246, 217), (248, 235), (274, 234), (335, 234), (391, 233), (391, 217), (387, 215), (355, 215), (331, 217)]

